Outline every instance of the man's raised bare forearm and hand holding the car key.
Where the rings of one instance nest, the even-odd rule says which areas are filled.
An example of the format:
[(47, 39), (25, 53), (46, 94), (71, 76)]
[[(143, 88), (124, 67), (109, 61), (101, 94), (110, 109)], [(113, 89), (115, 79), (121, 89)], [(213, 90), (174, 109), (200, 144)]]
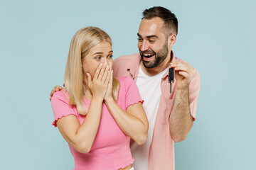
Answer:
[(174, 68), (177, 91), (169, 120), (169, 130), (174, 142), (181, 142), (186, 139), (193, 125), (189, 108), (188, 85), (191, 82), (194, 70), (186, 62), (173, 62), (170, 65)]

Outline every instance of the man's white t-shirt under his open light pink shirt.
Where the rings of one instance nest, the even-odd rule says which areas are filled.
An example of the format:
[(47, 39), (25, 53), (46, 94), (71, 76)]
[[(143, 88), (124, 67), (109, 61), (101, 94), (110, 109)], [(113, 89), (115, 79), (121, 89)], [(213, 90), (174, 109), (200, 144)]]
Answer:
[(143, 108), (149, 120), (149, 132), (146, 142), (143, 145), (139, 146), (134, 142), (131, 146), (135, 170), (148, 169), (149, 147), (152, 142), (154, 123), (156, 121), (156, 114), (161, 98), (161, 77), (164, 76), (167, 70), (168, 67), (156, 76), (149, 77), (148, 75), (144, 74), (142, 68), (139, 66), (139, 74), (136, 84), (139, 89), (139, 94), (144, 100)]

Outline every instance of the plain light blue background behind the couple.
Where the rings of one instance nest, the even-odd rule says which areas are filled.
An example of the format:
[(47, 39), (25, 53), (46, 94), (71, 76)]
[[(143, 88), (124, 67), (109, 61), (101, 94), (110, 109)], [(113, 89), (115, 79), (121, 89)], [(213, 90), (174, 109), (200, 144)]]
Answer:
[(0, 169), (73, 169), (51, 122), (68, 47), (85, 26), (107, 31), (114, 57), (137, 50), (142, 11), (176, 13), (174, 54), (196, 67), (196, 122), (175, 144), (176, 169), (256, 169), (256, 1), (1, 1)]

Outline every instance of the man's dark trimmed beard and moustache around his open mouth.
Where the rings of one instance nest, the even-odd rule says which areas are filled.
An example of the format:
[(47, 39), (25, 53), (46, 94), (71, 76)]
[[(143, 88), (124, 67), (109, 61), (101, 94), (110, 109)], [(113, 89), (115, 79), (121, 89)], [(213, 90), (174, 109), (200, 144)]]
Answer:
[[(144, 65), (144, 67), (146, 67), (147, 69), (152, 69), (154, 67), (159, 66), (159, 64), (161, 64), (161, 62), (163, 62), (167, 55), (168, 55), (168, 42), (166, 40), (166, 42), (164, 42), (163, 47), (159, 50), (159, 52), (154, 52), (153, 50), (149, 49), (146, 50), (145, 52), (139, 51), (141, 57), (142, 57), (142, 63)], [(143, 59), (143, 53), (151, 53), (155, 55), (155, 59), (152, 62), (149, 61), (144, 61)]]

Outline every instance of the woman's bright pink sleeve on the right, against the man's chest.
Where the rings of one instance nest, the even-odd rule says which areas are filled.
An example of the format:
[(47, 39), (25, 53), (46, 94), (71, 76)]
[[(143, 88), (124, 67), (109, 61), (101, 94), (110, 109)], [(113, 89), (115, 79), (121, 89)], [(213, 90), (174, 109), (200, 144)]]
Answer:
[(135, 83), (135, 81), (130, 77), (125, 77), (125, 108), (127, 109), (129, 106), (134, 105), (135, 103), (141, 102), (143, 104), (143, 100), (141, 96), (139, 96), (139, 89)]

